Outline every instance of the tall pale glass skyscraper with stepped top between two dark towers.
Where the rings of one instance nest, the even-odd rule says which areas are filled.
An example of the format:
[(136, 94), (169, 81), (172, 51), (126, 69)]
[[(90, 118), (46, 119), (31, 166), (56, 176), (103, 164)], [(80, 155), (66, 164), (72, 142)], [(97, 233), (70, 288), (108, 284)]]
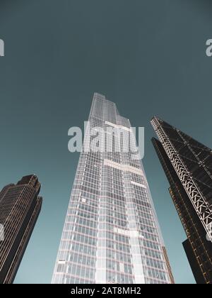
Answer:
[[(129, 119), (105, 96), (94, 94), (89, 124), (52, 283), (174, 283), (141, 160), (132, 155), (135, 138), (135, 150), (124, 150), (131, 135)], [(97, 127), (110, 150), (103, 139), (103, 150), (88, 150), (90, 129)], [(117, 150), (119, 140), (122, 150)]]

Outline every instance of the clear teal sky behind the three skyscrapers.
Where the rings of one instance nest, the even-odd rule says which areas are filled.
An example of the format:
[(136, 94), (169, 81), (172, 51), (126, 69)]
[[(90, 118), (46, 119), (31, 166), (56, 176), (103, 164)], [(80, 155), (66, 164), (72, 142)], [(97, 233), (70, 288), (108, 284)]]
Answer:
[(94, 92), (145, 127), (143, 164), (175, 281), (194, 283), (149, 121), (212, 148), (211, 13), (209, 0), (0, 1), (0, 188), (35, 173), (44, 198), (16, 283), (52, 278), (78, 162), (67, 132), (83, 127)]

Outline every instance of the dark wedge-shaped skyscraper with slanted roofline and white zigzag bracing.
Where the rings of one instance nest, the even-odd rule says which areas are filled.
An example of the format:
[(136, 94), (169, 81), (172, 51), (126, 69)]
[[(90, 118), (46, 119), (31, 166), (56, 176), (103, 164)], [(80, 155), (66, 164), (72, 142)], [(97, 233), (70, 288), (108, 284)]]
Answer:
[(196, 283), (212, 283), (212, 150), (154, 117), (153, 138), (187, 240), (183, 246)]

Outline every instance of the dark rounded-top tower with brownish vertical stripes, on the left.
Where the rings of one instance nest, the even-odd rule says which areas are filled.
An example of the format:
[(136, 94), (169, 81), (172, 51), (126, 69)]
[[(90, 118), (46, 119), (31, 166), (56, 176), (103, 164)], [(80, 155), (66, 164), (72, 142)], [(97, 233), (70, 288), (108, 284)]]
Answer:
[(8, 184), (0, 192), (0, 283), (13, 282), (23, 253), (40, 213), (40, 182), (35, 175), (23, 177), (16, 185)]

